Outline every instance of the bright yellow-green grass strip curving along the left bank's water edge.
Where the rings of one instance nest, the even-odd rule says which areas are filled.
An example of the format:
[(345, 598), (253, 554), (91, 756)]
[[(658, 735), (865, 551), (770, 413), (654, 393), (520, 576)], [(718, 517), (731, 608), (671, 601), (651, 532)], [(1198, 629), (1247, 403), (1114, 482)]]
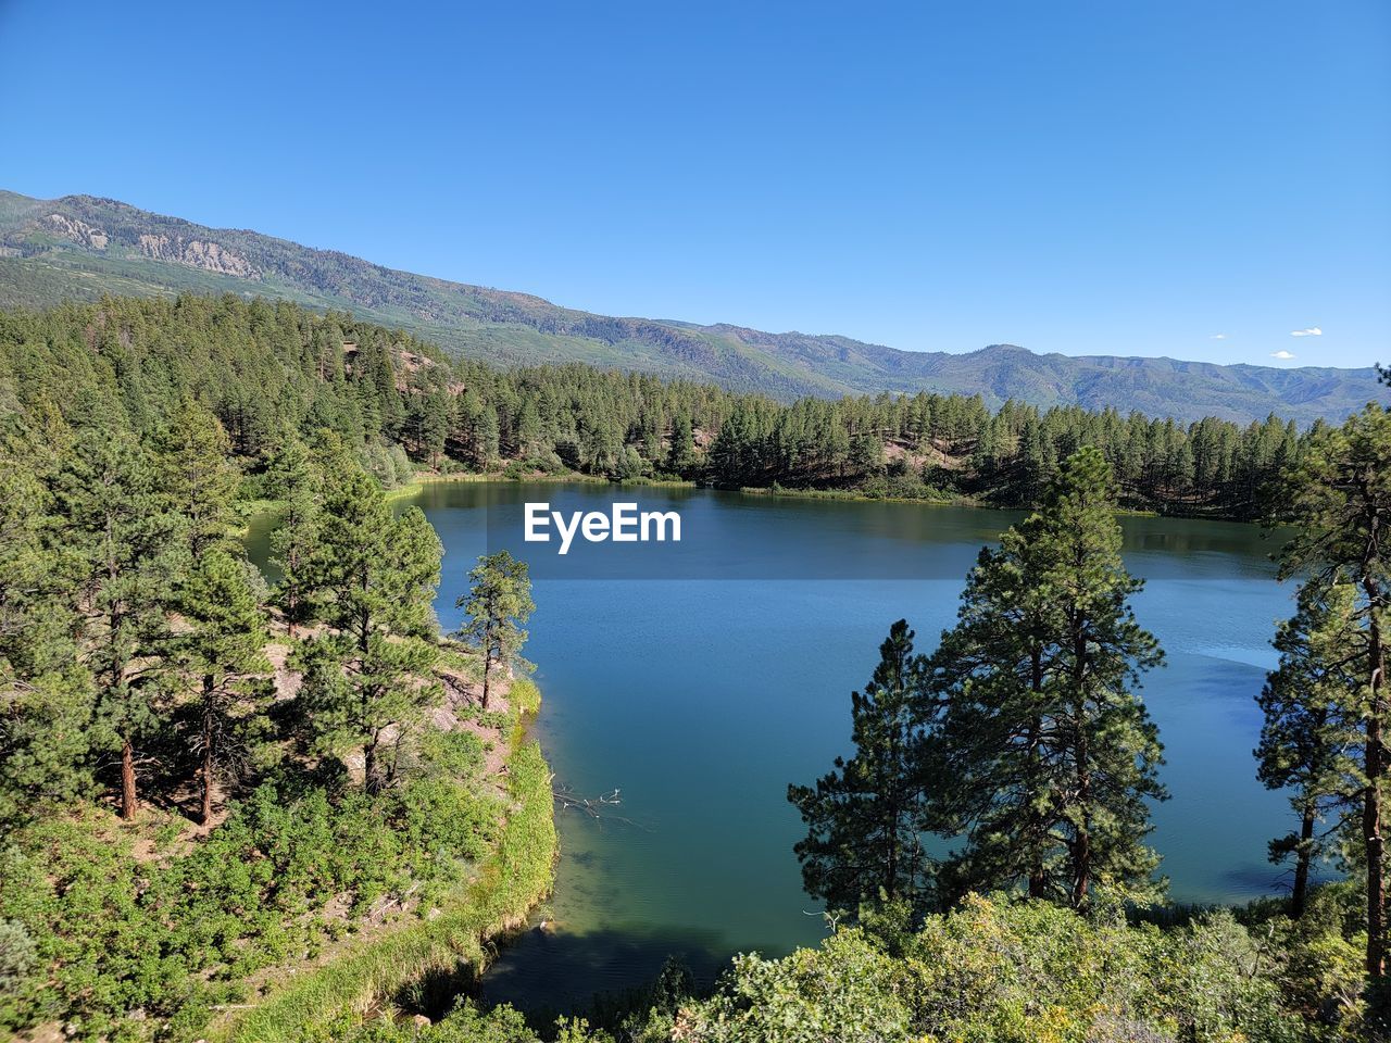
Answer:
[[(538, 705), (540, 693), (517, 697)], [(534, 693), (534, 695), (531, 694)], [(517, 698), (515, 697), (515, 698)], [(551, 770), (536, 741), (513, 747), (508, 761), (510, 809), (497, 850), (483, 871), (434, 919), (421, 919), (291, 979), (220, 1030), (214, 1043), (302, 1043), (331, 1039), (344, 1018), (360, 1019), (410, 982), (469, 964), (481, 973), (487, 941), (522, 926), (554, 883), (558, 839)]]

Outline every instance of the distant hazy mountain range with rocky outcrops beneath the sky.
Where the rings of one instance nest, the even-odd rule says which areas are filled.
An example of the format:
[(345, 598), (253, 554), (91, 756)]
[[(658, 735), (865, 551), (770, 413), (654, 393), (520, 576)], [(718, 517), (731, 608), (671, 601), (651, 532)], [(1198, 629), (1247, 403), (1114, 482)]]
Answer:
[(498, 364), (584, 362), (789, 399), (865, 392), (981, 394), (1039, 406), (1114, 406), (1196, 420), (1341, 420), (1383, 396), (1376, 371), (1214, 366), (1013, 345), (904, 352), (849, 337), (618, 318), (541, 298), (384, 268), (260, 232), (206, 228), (93, 196), (0, 191), (0, 307), (102, 293), (263, 295), (341, 309)]

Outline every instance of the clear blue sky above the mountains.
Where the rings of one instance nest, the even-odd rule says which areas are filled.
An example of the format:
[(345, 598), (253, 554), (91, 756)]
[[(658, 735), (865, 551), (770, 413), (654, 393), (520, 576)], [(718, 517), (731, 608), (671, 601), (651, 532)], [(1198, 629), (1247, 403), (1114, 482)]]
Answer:
[(0, 0), (0, 186), (611, 314), (1391, 359), (1380, 0), (310, 7)]

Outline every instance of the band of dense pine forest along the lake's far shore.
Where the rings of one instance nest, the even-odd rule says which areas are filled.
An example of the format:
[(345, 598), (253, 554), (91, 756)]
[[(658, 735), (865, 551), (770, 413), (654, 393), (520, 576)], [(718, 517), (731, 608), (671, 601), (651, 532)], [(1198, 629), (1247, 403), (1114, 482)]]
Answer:
[(264, 298), (0, 309), (0, 432), (42, 451), (93, 413), (150, 431), (185, 399), (217, 417), (252, 481), (287, 441), (330, 431), (388, 487), (424, 466), (1032, 506), (1092, 445), (1124, 506), (1235, 519), (1269, 512), (1281, 469), (1324, 427), (1013, 401), (992, 413), (979, 395), (926, 392), (783, 403), (581, 364), (498, 370)]

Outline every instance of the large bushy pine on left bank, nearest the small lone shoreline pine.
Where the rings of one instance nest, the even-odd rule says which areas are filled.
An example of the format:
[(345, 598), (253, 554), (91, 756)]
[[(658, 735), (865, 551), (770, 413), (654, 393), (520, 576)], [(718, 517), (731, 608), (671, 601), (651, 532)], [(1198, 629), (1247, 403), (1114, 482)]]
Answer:
[(380, 487), (344, 458), (332, 462), (313, 584), (330, 633), (300, 644), (300, 700), (314, 747), (360, 750), (369, 793), (392, 784), (408, 733), (440, 702), (431, 606), (440, 540), (424, 513), (392, 517)]

